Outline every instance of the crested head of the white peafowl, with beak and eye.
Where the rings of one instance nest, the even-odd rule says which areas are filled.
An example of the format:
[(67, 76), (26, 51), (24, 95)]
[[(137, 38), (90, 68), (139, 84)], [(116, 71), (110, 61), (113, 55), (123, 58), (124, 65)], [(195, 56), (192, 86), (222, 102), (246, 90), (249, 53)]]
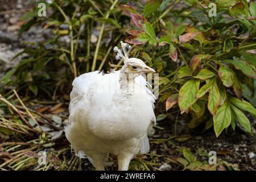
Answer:
[(148, 67), (141, 59), (135, 57), (129, 58), (128, 51), (131, 46), (121, 41), (122, 49), (114, 47), (114, 51), (117, 52), (115, 59), (123, 61), (122, 71), (125, 74), (142, 75), (144, 73), (155, 73), (155, 70)]

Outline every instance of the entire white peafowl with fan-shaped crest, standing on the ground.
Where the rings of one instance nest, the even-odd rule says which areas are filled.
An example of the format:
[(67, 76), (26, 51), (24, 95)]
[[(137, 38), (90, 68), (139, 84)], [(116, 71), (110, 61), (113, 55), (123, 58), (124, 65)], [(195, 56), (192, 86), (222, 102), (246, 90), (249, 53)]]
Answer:
[(138, 152), (150, 150), (147, 130), (155, 123), (155, 97), (142, 73), (154, 72), (143, 61), (128, 58), (126, 43), (118, 57), (121, 71), (85, 73), (73, 81), (69, 125), (65, 135), (73, 149), (86, 155), (97, 170), (104, 170), (109, 153), (118, 156), (118, 169), (127, 170)]

